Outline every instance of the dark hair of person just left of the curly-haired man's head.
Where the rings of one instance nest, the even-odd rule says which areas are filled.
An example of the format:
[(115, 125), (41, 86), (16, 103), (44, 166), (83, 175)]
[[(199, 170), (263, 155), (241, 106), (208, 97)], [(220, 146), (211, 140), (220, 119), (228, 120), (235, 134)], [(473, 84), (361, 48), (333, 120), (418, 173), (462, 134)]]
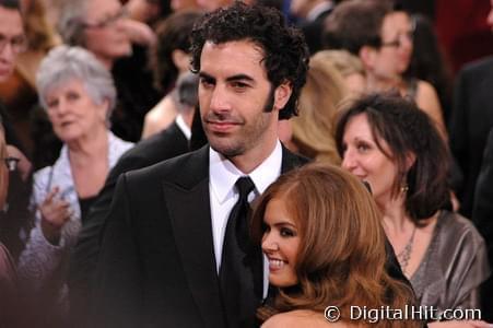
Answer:
[(151, 54), (151, 66), (154, 68), (154, 85), (163, 94), (175, 86), (179, 69), (174, 59), (189, 54), (190, 32), (201, 15), (198, 11), (178, 12), (156, 26), (157, 42)]

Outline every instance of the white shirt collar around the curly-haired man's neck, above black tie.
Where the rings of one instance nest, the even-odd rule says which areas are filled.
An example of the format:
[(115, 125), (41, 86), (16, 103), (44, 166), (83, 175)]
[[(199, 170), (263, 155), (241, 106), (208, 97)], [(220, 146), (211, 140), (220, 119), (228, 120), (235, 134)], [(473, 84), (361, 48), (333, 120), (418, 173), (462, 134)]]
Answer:
[[(261, 195), (281, 174), (282, 147), (278, 140), (269, 157), (257, 166), (248, 176), (255, 184), (257, 196)], [(212, 191), (222, 203), (234, 191), (236, 180), (245, 176), (230, 160), (209, 148), (209, 175)]]

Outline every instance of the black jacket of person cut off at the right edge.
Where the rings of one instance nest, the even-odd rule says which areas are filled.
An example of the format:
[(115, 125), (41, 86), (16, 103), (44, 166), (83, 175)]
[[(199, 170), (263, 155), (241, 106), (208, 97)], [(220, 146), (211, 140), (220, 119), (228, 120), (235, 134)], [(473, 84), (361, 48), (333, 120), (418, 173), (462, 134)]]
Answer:
[(493, 127), (493, 57), (466, 66), (459, 73), (450, 113), (450, 150), (463, 174), (457, 190), (460, 212), (471, 218), (474, 188), (488, 133)]

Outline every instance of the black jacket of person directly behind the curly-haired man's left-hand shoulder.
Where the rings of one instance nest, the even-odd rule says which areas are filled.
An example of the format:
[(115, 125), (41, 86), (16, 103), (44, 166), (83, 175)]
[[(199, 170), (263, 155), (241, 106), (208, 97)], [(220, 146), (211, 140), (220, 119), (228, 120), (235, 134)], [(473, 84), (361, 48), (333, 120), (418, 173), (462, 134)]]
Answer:
[(189, 151), (188, 141), (176, 124), (136, 144), (109, 172), (105, 186), (82, 224), (78, 243), (71, 255), (69, 297), (72, 321), (85, 326), (90, 282), (94, 277), (101, 246), (101, 234), (109, 213), (115, 186), (120, 174), (175, 157)]

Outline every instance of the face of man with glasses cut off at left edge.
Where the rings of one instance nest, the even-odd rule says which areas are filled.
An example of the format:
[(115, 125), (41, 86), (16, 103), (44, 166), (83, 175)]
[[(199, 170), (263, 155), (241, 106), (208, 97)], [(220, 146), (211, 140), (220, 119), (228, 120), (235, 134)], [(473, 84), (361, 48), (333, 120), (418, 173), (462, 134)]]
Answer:
[(24, 27), (17, 10), (0, 5), (0, 82), (12, 74), (17, 51), (14, 44), (24, 39)]

